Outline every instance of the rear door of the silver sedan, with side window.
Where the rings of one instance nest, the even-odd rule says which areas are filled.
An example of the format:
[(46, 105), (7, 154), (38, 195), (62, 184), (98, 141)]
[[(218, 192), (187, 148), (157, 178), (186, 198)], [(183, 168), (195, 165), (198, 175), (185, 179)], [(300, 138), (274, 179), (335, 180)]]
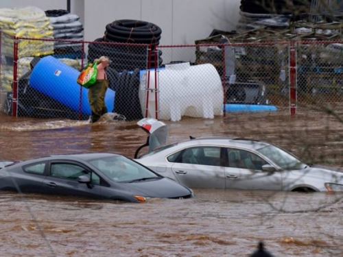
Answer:
[(183, 149), (171, 166), (175, 178), (191, 188), (225, 188), (225, 168), (220, 164), (221, 147)]

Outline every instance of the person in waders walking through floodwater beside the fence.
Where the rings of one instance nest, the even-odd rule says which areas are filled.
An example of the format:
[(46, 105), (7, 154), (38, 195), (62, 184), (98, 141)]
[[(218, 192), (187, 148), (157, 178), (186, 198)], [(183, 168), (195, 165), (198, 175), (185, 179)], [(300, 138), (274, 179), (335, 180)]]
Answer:
[(110, 60), (106, 56), (102, 56), (94, 62), (97, 62), (97, 81), (88, 89), (88, 101), (92, 111), (91, 123), (97, 122), (102, 115), (107, 113), (105, 95), (108, 88), (108, 79), (105, 70)]

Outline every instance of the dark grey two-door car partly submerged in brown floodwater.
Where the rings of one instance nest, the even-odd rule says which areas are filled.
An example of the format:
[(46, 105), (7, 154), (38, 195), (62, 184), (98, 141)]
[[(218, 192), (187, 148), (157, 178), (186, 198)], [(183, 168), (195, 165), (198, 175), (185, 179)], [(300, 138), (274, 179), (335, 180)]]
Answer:
[(130, 158), (91, 153), (0, 162), (0, 190), (142, 202), (186, 199), (191, 189)]

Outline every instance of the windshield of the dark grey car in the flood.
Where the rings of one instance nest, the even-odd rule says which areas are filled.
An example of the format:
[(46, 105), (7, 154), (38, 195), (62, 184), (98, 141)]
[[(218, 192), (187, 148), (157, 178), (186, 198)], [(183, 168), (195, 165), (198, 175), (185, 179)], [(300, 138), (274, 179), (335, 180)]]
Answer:
[(115, 182), (157, 180), (162, 178), (161, 175), (124, 156), (108, 156), (88, 160), (88, 162), (106, 175), (107, 178)]

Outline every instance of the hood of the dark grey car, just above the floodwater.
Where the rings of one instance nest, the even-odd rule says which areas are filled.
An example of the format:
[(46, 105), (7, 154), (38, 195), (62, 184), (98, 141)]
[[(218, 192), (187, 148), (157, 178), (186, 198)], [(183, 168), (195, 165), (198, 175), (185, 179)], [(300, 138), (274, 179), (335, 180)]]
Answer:
[(146, 180), (125, 184), (132, 191), (139, 191), (145, 197), (179, 198), (191, 195), (191, 190), (174, 180), (162, 178), (161, 180)]

